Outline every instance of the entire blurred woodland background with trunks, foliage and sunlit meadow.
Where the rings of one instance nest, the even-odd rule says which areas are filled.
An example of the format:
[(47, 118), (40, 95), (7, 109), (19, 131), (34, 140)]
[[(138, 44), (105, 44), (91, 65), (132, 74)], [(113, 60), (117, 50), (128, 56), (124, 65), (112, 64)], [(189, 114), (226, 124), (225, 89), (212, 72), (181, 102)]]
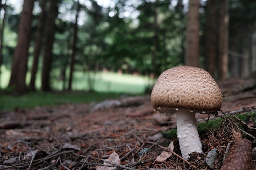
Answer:
[(143, 93), (191, 65), (253, 77), (253, 0), (1, 0), (0, 87)]

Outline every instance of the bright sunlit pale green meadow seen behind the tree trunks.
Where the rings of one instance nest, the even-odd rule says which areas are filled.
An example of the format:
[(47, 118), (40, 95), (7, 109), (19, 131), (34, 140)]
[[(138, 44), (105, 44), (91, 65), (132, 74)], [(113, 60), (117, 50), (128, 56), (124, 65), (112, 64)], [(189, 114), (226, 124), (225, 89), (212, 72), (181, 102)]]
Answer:
[[(51, 87), (54, 90), (62, 90), (63, 81), (60, 80), (60, 70), (53, 69), (51, 72)], [(67, 76), (69, 71), (67, 71)], [(4, 89), (9, 83), (11, 72), (4, 65), (1, 67), (1, 81), (0, 88)], [(133, 76), (130, 74), (117, 74), (115, 72), (97, 72), (89, 74), (87, 72), (76, 71), (73, 75), (72, 89), (75, 91), (88, 91), (89, 79), (93, 80), (93, 90), (96, 92), (112, 92), (112, 93), (126, 93), (126, 94), (142, 94), (149, 85), (155, 83), (154, 80), (146, 76)], [(30, 72), (26, 76), (26, 84), (30, 81)], [(37, 89), (41, 87), (41, 73), (40, 69), (35, 81)], [(68, 77), (65, 82), (66, 88), (68, 85)]]

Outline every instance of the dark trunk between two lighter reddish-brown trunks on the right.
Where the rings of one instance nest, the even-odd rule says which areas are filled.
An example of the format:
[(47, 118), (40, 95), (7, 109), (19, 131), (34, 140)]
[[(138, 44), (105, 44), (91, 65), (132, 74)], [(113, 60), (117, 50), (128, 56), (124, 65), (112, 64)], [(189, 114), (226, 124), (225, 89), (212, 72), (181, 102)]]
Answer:
[(214, 77), (216, 60), (216, 0), (208, 0), (206, 6), (205, 59), (206, 69)]

